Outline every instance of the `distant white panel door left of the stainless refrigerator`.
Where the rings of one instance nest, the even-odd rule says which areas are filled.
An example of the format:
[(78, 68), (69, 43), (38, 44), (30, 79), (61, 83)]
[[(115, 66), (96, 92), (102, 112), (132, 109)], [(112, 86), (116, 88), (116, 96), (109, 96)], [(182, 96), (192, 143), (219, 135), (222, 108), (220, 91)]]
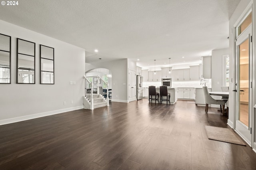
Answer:
[(128, 75), (128, 101), (136, 100), (136, 73), (135, 71), (129, 70)]

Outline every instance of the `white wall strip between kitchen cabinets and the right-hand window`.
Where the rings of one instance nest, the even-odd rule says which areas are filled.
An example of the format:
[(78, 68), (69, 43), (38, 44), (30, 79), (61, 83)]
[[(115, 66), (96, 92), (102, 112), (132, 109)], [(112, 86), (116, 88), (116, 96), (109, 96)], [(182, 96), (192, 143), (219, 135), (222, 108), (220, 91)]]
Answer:
[(222, 55), (225, 54), (229, 54), (229, 48), (212, 50), (212, 91), (221, 91), (224, 71), (222, 70)]

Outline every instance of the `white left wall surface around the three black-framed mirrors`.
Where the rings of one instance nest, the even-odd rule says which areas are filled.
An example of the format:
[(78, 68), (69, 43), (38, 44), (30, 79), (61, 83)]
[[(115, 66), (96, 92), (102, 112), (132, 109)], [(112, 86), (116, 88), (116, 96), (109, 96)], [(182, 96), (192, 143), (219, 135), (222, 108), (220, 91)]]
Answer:
[[(1, 34), (12, 36), (11, 84), (0, 84), (0, 125), (82, 109), (85, 50), (2, 20), (0, 26)], [(16, 38), (36, 43), (36, 84), (16, 84)], [(54, 85), (40, 85), (39, 44), (54, 48)]]

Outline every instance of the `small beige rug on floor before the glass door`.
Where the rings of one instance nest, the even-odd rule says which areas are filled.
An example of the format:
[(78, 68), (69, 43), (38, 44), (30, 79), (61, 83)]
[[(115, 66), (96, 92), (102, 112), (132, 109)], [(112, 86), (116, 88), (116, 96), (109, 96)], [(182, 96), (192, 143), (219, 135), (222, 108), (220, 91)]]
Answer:
[(208, 139), (218, 140), (222, 142), (240, 144), (246, 146), (246, 144), (238, 138), (237, 134), (230, 128), (211, 127), (204, 126)]

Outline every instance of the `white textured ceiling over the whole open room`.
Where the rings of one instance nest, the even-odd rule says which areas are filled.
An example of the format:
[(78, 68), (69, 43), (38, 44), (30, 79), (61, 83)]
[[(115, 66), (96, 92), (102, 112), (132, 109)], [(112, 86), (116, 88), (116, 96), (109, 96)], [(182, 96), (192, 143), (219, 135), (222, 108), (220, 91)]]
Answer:
[(228, 20), (240, 0), (18, 2), (0, 6), (0, 20), (82, 47), (88, 63), (131, 58), (148, 67), (156, 59), (168, 67), (169, 57), (171, 65), (195, 63), (227, 48)]

